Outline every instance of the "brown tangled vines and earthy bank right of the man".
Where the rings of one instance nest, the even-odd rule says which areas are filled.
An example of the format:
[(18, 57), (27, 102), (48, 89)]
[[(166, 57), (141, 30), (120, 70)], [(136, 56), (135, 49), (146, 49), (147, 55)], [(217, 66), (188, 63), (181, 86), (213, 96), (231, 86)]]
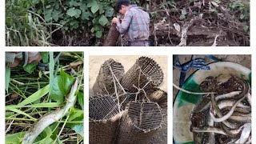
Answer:
[(250, 46), (248, 0), (153, 1), (150, 16), (155, 46), (178, 46), (185, 33), (182, 46)]

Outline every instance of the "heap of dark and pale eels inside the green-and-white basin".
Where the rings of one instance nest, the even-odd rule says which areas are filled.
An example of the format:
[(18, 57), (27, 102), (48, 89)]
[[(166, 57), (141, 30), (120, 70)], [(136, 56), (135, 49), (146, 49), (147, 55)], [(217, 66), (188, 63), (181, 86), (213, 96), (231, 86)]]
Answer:
[(250, 84), (237, 77), (226, 82), (208, 77), (200, 90), (209, 92), (190, 115), (195, 143), (251, 143)]

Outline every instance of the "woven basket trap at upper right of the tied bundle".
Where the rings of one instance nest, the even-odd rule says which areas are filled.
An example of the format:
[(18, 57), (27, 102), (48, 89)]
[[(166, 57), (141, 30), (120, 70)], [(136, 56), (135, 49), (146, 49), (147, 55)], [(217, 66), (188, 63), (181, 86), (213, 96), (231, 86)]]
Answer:
[(138, 89), (134, 86), (149, 89), (159, 86), (162, 81), (162, 69), (158, 66), (157, 62), (151, 58), (141, 57), (137, 59), (134, 66), (123, 76), (121, 85), (129, 92), (137, 92)]

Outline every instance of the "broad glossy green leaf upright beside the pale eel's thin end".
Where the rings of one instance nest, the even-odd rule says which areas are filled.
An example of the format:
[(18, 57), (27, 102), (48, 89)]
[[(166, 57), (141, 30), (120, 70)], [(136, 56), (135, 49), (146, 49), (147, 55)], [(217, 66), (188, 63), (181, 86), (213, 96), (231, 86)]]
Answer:
[(61, 70), (60, 74), (54, 78), (53, 92), (50, 95), (50, 98), (56, 102), (62, 103), (64, 101), (64, 97), (69, 93), (73, 83), (74, 78)]

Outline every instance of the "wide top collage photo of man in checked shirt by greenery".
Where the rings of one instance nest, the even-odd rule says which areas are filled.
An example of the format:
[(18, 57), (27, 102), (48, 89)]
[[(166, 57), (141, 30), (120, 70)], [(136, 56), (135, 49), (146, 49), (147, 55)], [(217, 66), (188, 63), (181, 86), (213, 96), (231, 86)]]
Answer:
[(250, 1), (6, 0), (5, 46), (250, 46)]

